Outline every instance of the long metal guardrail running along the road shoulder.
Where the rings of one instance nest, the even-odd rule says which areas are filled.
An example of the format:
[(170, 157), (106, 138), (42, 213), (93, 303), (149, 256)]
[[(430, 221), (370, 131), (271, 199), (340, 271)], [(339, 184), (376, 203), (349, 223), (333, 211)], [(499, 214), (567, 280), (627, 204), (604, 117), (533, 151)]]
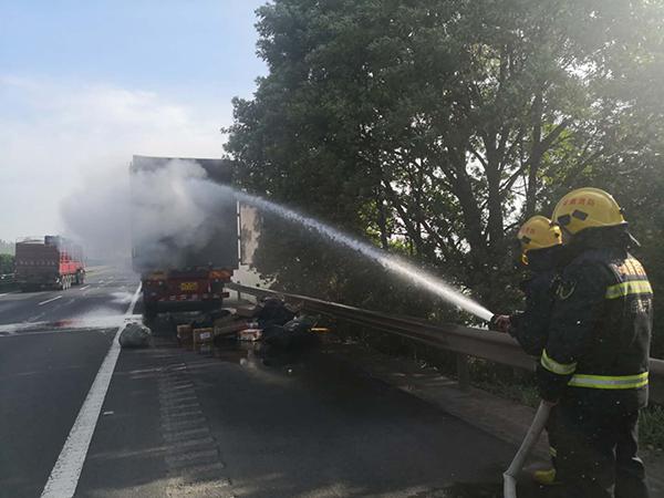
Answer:
[[(527, 355), (510, 335), (483, 329), (474, 329), (450, 323), (436, 324), (413, 317), (398, 317), (376, 311), (363, 310), (336, 302), (329, 302), (307, 295), (289, 294), (268, 289), (226, 283), (227, 289), (258, 298), (281, 297), (302, 309), (336, 318), (350, 323), (380, 330), (409, 339), (419, 344), (452, 351), (457, 355), (458, 383), (461, 390), (470, 385), (468, 356), (481, 357), (502, 365), (535, 371), (536, 361)], [(651, 400), (664, 404), (664, 361), (650, 361)]]

